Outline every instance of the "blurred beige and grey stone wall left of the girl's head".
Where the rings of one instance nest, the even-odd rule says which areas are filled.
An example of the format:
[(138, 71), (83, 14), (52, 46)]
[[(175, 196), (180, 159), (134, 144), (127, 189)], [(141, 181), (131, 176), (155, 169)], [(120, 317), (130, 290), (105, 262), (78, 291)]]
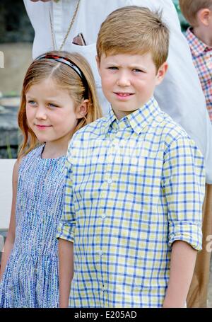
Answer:
[(20, 91), (32, 62), (32, 44), (0, 44), (0, 50), (5, 57), (4, 68), (0, 69), (0, 159), (16, 159), (21, 140), (17, 122)]

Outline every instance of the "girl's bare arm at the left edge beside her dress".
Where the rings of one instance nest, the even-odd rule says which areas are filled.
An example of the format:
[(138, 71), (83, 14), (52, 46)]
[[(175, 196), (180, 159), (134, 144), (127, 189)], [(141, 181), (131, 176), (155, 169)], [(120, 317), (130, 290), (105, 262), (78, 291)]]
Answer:
[(6, 268), (6, 263), (13, 249), (15, 236), (16, 236), (16, 193), (17, 193), (17, 184), (18, 184), (19, 164), (20, 164), (20, 160), (17, 160), (13, 167), (13, 199), (12, 199), (12, 205), (11, 205), (11, 219), (10, 219), (10, 224), (8, 228), (8, 233), (6, 236), (6, 242), (4, 244), (4, 253), (2, 253), (2, 258), (1, 258), (0, 280), (3, 277), (4, 270)]

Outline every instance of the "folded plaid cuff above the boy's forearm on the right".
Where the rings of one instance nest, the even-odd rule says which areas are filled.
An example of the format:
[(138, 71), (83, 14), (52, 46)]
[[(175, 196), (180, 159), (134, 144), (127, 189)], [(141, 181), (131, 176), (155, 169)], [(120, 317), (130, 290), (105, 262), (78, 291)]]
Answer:
[(196, 251), (202, 249), (202, 231), (201, 226), (190, 222), (180, 222), (170, 224), (169, 245), (172, 246), (174, 241), (186, 241)]

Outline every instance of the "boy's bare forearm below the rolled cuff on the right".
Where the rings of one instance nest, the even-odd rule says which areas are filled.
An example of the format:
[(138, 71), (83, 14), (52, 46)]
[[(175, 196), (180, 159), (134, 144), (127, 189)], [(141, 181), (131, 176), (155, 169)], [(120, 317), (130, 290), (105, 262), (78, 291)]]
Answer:
[(185, 241), (175, 241), (172, 244), (170, 280), (163, 302), (164, 308), (185, 307), (189, 286), (192, 282), (196, 253), (197, 251)]

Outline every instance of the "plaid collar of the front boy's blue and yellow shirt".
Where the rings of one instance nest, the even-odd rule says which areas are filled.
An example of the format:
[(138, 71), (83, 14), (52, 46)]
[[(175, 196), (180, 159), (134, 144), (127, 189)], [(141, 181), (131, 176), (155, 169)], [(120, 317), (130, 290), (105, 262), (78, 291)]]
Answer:
[(121, 120), (117, 119), (116, 115), (114, 115), (114, 111), (112, 110), (112, 108), (110, 108), (110, 111), (107, 117), (105, 118), (105, 134), (109, 132), (110, 125), (113, 125), (114, 127), (114, 123), (117, 124), (117, 127), (118, 125), (122, 125), (122, 127), (123, 125), (125, 127), (131, 126), (134, 132), (136, 132), (137, 134), (141, 134), (143, 128), (152, 122), (153, 118), (155, 118), (155, 116), (158, 115), (159, 111), (160, 108), (155, 98), (151, 98), (151, 100), (145, 103), (141, 108), (139, 108), (139, 110), (135, 110), (133, 113), (126, 115)]

